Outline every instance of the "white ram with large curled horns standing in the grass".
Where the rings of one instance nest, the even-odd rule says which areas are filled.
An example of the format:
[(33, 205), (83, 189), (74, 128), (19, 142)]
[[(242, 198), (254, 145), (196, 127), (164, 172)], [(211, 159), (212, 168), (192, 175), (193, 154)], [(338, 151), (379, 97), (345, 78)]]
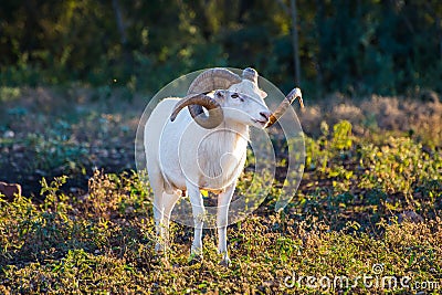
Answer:
[(228, 211), (244, 168), (249, 127), (269, 127), (295, 98), (302, 103), (301, 91), (295, 88), (272, 114), (265, 96), (255, 70), (248, 67), (239, 76), (227, 69), (211, 69), (197, 76), (186, 97), (165, 98), (152, 110), (144, 144), (159, 238), (156, 251), (166, 249), (173, 206), (188, 194), (194, 225), (191, 255), (202, 254), (203, 189), (218, 194), (218, 251), (223, 256), (221, 264), (229, 265)]

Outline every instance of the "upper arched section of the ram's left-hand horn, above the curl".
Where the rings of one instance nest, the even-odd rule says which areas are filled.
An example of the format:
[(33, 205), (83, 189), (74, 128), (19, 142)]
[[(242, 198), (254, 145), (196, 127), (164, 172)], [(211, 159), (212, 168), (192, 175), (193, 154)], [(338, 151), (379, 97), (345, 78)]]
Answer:
[(228, 89), (232, 84), (241, 83), (241, 77), (227, 69), (210, 69), (199, 74), (190, 84), (190, 94), (208, 93), (215, 89)]

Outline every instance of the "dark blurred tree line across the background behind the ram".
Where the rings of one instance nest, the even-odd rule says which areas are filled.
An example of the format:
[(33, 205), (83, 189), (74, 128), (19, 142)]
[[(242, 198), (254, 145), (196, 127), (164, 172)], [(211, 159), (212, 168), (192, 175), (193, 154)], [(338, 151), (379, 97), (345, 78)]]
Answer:
[(253, 66), (287, 91), (299, 66), (311, 96), (442, 92), (441, 17), (440, 0), (2, 0), (0, 83), (155, 92)]

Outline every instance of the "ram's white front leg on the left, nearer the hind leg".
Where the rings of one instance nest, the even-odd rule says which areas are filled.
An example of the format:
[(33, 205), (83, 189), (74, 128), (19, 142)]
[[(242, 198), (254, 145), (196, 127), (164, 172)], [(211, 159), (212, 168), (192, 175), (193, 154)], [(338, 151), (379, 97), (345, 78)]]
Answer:
[(193, 225), (194, 225), (194, 234), (193, 242), (191, 247), (191, 256), (201, 257), (202, 256), (202, 226), (204, 224), (204, 203), (202, 201), (202, 196), (200, 193), (200, 189), (191, 183), (190, 181), (186, 182), (190, 203), (192, 204), (192, 214), (193, 214)]

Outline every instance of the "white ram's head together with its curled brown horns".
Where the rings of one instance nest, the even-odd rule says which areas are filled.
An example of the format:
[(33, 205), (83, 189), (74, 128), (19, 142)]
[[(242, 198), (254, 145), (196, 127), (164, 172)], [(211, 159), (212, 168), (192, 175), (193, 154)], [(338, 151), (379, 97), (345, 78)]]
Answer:
[[(208, 94), (213, 91), (217, 91), (213, 97), (209, 96)], [(299, 98), (303, 106), (299, 88), (293, 89), (274, 113), (269, 110), (263, 101), (266, 96), (267, 94), (257, 85), (255, 70), (248, 67), (242, 72), (242, 76), (239, 76), (225, 69), (211, 69), (201, 73), (190, 84), (188, 95), (176, 105), (170, 119), (175, 120), (178, 113), (189, 106), (192, 118), (201, 127), (211, 129), (219, 126), (224, 119), (222, 106), (234, 106), (234, 98), (239, 98), (253, 102), (254, 107), (242, 106), (242, 108), (244, 110), (253, 109), (253, 113), (256, 113), (250, 114), (249, 112), (249, 118), (255, 125), (269, 127), (284, 114), (294, 99)], [(204, 114), (203, 107), (208, 109), (209, 115)]]

